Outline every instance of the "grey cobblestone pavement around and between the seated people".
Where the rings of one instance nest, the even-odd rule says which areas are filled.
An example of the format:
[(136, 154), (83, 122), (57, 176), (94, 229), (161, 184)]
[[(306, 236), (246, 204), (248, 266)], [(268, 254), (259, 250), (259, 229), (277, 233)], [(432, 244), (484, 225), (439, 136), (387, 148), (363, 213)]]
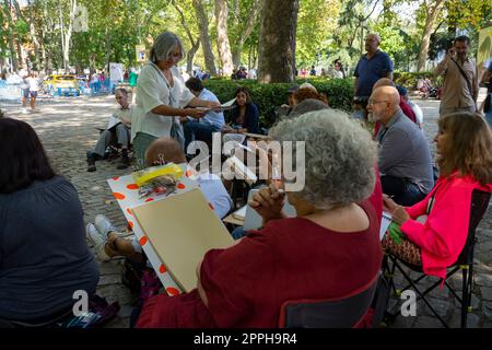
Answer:
[[(434, 138), (437, 126), (436, 101), (415, 100), (424, 112), (424, 130), (430, 142)], [(105, 127), (110, 108), (115, 106), (113, 96), (57, 98), (39, 104), (38, 113), (21, 114), (17, 105), (8, 104), (7, 112), (30, 122), (39, 135), (54, 166), (71, 180), (82, 201), (85, 221), (93, 221), (95, 214), (104, 213), (117, 228), (125, 230), (126, 223), (118, 205), (114, 201), (106, 178), (127, 174), (116, 170), (116, 164), (106, 161), (96, 162), (97, 171), (86, 172), (85, 152), (94, 147), (98, 131), (96, 127)], [(5, 105), (2, 106), (2, 109)], [(432, 143), (432, 150), (435, 145)], [(60, 213), (62, 214), (62, 213)], [(478, 229), (478, 246), (476, 248), (476, 275), (472, 306), (469, 314), (469, 327), (492, 327), (492, 210), (489, 208)], [(133, 298), (121, 283), (121, 260), (101, 264), (101, 280), (97, 292), (109, 302), (118, 301), (121, 311), (117, 319), (108, 327), (128, 327)], [(460, 290), (460, 278), (452, 282)], [(431, 293), (433, 304), (438, 312), (459, 326), (459, 307), (450, 293), (444, 288)], [(429, 310), (418, 304), (417, 317), (398, 317), (391, 327), (441, 327), (438, 319)]]

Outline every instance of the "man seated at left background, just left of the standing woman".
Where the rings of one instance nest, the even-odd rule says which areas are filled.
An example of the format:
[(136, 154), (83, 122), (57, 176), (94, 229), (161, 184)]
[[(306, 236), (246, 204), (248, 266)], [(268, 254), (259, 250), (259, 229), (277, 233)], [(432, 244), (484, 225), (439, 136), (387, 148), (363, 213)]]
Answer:
[(121, 160), (117, 168), (124, 170), (130, 166), (128, 148), (130, 145), (132, 106), (128, 102), (128, 93), (125, 89), (117, 89), (115, 97), (120, 107), (113, 112), (108, 128), (101, 132), (94, 150), (87, 152), (87, 172), (96, 171), (95, 162), (104, 158), (107, 147), (112, 143), (121, 148)]

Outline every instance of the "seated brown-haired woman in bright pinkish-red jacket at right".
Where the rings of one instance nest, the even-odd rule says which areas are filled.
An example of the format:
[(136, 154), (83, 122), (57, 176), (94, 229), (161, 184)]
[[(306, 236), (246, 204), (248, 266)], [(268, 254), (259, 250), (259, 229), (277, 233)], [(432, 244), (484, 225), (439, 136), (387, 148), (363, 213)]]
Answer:
[(422, 266), (426, 275), (445, 279), (468, 236), (473, 189), (492, 191), (492, 135), (483, 117), (461, 112), (438, 119), (434, 142), (441, 176), (425, 199), (412, 207), (384, 198), (402, 234), (386, 233), (383, 245), (403, 261)]

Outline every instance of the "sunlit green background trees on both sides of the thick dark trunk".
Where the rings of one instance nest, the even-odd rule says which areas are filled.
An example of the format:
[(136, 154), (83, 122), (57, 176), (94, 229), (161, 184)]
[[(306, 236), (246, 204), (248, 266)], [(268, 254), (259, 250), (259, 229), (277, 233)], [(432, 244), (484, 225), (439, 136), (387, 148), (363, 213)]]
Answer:
[[(274, 0), (1, 0), (0, 69), (132, 67), (136, 45), (149, 49), (163, 31), (181, 38), (188, 70), (256, 68), (265, 1)], [(341, 58), (353, 67), (376, 32), (397, 69), (424, 70), (455, 35), (469, 35), (477, 50), (491, 13), (490, 0), (298, 0), (295, 65)]]

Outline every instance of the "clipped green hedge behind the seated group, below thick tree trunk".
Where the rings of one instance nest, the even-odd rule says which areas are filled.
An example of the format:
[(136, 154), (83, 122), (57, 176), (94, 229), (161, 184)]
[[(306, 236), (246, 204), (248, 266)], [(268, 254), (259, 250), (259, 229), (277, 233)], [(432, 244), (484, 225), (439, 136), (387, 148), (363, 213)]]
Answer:
[[(332, 108), (350, 112), (352, 108), (353, 81), (351, 79), (300, 79), (297, 84), (309, 82), (318, 92), (328, 96), (328, 104)], [(227, 102), (235, 97), (238, 86), (245, 86), (251, 94), (253, 102), (258, 106), (261, 122), (270, 127), (276, 121), (274, 110), (278, 106), (286, 104), (288, 90), (292, 84), (259, 84), (255, 80), (227, 80), (212, 79), (204, 82), (204, 86), (212, 91), (221, 102)]]

